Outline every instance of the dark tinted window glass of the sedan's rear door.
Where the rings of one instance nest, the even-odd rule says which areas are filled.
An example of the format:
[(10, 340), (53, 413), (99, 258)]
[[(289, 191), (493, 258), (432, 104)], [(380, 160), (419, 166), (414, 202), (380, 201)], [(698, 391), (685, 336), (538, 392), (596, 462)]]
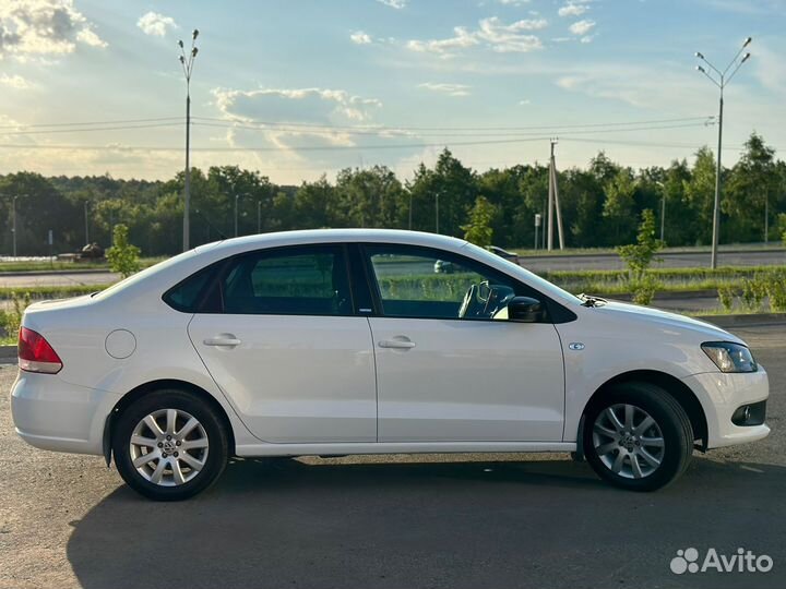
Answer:
[(224, 312), (346, 315), (352, 298), (343, 249), (287, 248), (238, 257), (223, 280)]

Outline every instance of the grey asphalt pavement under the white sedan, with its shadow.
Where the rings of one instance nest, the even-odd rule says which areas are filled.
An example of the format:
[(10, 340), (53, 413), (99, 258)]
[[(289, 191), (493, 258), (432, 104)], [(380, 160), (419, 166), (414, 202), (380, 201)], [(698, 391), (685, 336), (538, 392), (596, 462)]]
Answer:
[[(0, 587), (784, 587), (786, 327), (738, 333), (770, 373), (773, 433), (651, 494), (564, 455), (397, 456), (235, 460), (195, 500), (152, 503), (98, 457), (19, 440), (0, 368)], [(774, 567), (675, 575), (687, 548)]]

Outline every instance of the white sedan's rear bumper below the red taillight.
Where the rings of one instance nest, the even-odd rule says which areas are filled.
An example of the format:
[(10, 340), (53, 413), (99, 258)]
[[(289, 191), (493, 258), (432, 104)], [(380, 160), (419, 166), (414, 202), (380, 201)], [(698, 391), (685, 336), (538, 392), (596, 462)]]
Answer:
[(120, 395), (20, 371), (11, 390), (16, 433), (55, 452), (103, 454), (104, 425)]

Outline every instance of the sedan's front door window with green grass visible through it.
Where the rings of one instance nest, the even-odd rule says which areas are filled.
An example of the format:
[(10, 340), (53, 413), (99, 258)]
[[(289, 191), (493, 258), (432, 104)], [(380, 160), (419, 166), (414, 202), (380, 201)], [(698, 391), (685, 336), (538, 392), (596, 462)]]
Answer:
[(501, 318), (516, 285), (504, 275), (448, 252), (367, 245), (382, 313), (417, 318)]

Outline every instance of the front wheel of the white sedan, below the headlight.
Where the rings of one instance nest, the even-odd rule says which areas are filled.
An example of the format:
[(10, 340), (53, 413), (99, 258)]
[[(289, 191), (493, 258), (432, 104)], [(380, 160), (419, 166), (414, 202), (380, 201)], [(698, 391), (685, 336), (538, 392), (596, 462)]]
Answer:
[(666, 390), (623, 383), (587, 409), (583, 444), (587, 462), (602, 479), (630, 491), (655, 491), (688, 467), (693, 430), (684, 409)]

